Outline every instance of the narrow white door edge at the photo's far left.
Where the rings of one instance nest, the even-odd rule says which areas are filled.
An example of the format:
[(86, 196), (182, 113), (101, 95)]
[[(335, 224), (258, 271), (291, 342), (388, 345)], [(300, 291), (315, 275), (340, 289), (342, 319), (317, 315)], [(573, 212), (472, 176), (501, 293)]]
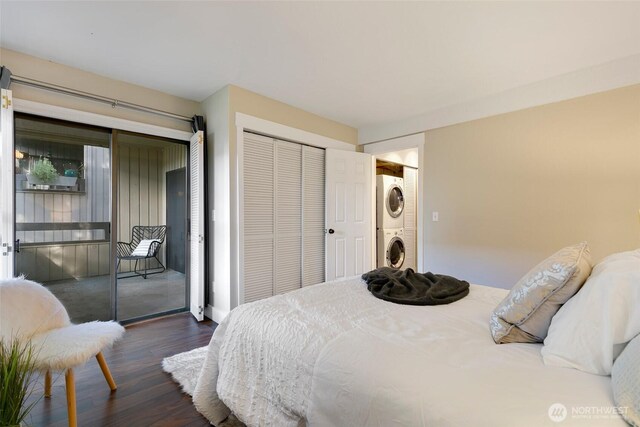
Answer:
[(14, 276), (13, 106), (11, 91), (2, 89), (0, 107), (0, 279)]

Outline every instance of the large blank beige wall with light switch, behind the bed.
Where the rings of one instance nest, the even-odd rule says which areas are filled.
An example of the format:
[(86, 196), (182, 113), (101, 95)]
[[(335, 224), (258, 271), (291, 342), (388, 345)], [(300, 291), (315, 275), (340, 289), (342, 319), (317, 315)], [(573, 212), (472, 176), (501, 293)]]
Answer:
[(565, 245), (640, 247), (640, 85), (425, 137), (427, 270), (510, 288)]

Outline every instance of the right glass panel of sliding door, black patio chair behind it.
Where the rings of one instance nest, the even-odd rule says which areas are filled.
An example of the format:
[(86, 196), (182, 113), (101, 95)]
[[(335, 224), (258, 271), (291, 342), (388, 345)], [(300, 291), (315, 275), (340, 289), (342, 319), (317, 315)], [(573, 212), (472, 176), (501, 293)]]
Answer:
[(184, 310), (187, 146), (118, 132), (117, 317)]

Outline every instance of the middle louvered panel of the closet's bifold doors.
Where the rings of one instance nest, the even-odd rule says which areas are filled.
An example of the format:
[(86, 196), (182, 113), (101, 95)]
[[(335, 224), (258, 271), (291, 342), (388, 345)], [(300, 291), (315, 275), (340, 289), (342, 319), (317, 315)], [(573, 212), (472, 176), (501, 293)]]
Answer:
[(275, 294), (302, 286), (302, 145), (275, 142)]

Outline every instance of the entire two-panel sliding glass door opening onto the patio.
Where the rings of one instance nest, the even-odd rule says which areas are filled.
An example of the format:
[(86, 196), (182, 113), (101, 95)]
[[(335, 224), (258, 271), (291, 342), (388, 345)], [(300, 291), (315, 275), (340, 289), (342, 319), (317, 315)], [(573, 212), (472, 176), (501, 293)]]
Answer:
[(14, 124), (16, 275), (74, 322), (186, 310), (187, 146), (24, 114)]

